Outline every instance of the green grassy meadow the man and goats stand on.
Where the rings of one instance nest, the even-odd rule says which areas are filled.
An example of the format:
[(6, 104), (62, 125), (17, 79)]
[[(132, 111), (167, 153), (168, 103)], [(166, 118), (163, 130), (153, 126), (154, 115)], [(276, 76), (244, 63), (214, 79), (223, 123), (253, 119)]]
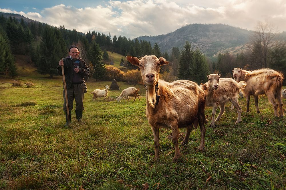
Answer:
[(61, 76), (18, 79), (35, 86), (12, 87), (12, 79), (0, 78), (0, 189), (286, 189), (286, 117), (274, 117), (267, 97), (259, 99), (260, 114), (253, 97), (249, 113), (240, 98), (239, 124), (227, 103), (217, 126), (206, 124), (205, 151), (196, 150), (200, 131), (193, 130), (178, 162), (172, 162), (171, 130), (161, 129), (154, 161), (144, 86), (135, 85), (141, 101), (115, 101), (134, 86), (124, 82), (106, 100), (92, 101), (90, 92), (111, 81), (88, 81), (82, 121), (73, 109), (72, 124), (63, 127)]

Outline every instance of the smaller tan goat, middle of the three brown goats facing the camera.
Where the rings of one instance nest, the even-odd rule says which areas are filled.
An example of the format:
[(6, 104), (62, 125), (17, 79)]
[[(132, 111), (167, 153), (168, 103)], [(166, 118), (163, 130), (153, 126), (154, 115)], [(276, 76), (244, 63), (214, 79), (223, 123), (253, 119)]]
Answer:
[[(216, 121), (219, 121), (225, 112), (225, 103), (231, 101), (237, 109), (237, 120), (235, 123), (241, 122), (241, 107), (238, 104), (237, 95), (239, 91), (245, 87), (245, 83), (237, 83), (232, 78), (219, 78), (221, 75), (210, 74), (206, 75), (208, 82), (202, 85), (202, 89), (206, 93), (206, 106), (212, 106), (212, 122), (210, 126), (214, 126)], [(217, 107), (220, 107), (219, 115), (215, 119)]]

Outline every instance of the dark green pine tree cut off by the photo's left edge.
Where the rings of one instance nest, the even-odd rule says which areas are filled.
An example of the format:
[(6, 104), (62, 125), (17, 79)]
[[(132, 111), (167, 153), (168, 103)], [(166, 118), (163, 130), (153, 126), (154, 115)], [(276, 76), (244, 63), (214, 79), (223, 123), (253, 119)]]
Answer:
[(13, 55), (11, 53), (8, 37), (3, 29), (0, 27), (0, 73), (10, 75), (11, 77), (17, 75)]

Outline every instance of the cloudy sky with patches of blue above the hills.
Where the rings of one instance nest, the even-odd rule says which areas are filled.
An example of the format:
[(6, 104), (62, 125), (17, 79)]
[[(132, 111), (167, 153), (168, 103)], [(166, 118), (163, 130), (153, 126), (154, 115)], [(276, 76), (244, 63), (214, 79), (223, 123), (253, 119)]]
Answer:
[(52, 26), (119, 36), (154, 36), (193, 23), (224, 23), (253, 30), (267, 22), (286, 31), (285, 0), (1, 1), (0, 12), (18, 13)]

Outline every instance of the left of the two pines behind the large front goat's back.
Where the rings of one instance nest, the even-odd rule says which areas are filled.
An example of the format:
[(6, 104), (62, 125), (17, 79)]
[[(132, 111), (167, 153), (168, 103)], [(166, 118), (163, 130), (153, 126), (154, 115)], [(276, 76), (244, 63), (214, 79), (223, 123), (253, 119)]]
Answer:
[(193, 50), (191, 49), (190, 42), (186, 41), (184, 50), (181, 52), (179, 62), (179, 79), (190, 79), (190, 68), (192, 63)]

